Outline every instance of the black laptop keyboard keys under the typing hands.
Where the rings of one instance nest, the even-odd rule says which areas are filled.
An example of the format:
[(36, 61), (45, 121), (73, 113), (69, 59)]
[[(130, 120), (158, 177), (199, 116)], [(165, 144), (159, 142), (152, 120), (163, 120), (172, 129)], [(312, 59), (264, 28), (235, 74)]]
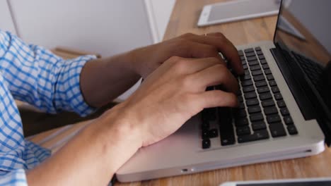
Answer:
[[(238, 51), (245, 74), (238, 78), (239, 106), (202, 111), (202, 149), (298, 134), (260, 47)], [(221, 86), (208, 87), (222, 89)]]

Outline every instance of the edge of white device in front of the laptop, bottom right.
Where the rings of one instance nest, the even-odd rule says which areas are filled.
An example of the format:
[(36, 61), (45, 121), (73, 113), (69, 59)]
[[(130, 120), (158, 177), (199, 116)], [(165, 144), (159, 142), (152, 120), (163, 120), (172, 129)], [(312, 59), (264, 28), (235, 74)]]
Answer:
[(220, 186), (330, 186), (331, 178), (224, 182)]

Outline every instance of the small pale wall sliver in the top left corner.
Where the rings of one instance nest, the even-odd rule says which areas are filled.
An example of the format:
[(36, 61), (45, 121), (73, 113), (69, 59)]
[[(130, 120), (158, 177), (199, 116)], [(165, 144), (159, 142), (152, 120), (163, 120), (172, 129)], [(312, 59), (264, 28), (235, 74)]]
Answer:
[(0, 0), (0, 29), (16, 34), (11, 13), (6, 0)]

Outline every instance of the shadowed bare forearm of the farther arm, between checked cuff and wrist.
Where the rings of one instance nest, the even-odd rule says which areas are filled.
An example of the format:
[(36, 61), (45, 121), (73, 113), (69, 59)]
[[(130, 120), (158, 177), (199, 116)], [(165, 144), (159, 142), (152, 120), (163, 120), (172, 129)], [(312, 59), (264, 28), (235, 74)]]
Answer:
[(88, 104), (104, 106), (136, 83), (140, 75), (130, 52), (89, 61), (81, 71), (81, 90)]

